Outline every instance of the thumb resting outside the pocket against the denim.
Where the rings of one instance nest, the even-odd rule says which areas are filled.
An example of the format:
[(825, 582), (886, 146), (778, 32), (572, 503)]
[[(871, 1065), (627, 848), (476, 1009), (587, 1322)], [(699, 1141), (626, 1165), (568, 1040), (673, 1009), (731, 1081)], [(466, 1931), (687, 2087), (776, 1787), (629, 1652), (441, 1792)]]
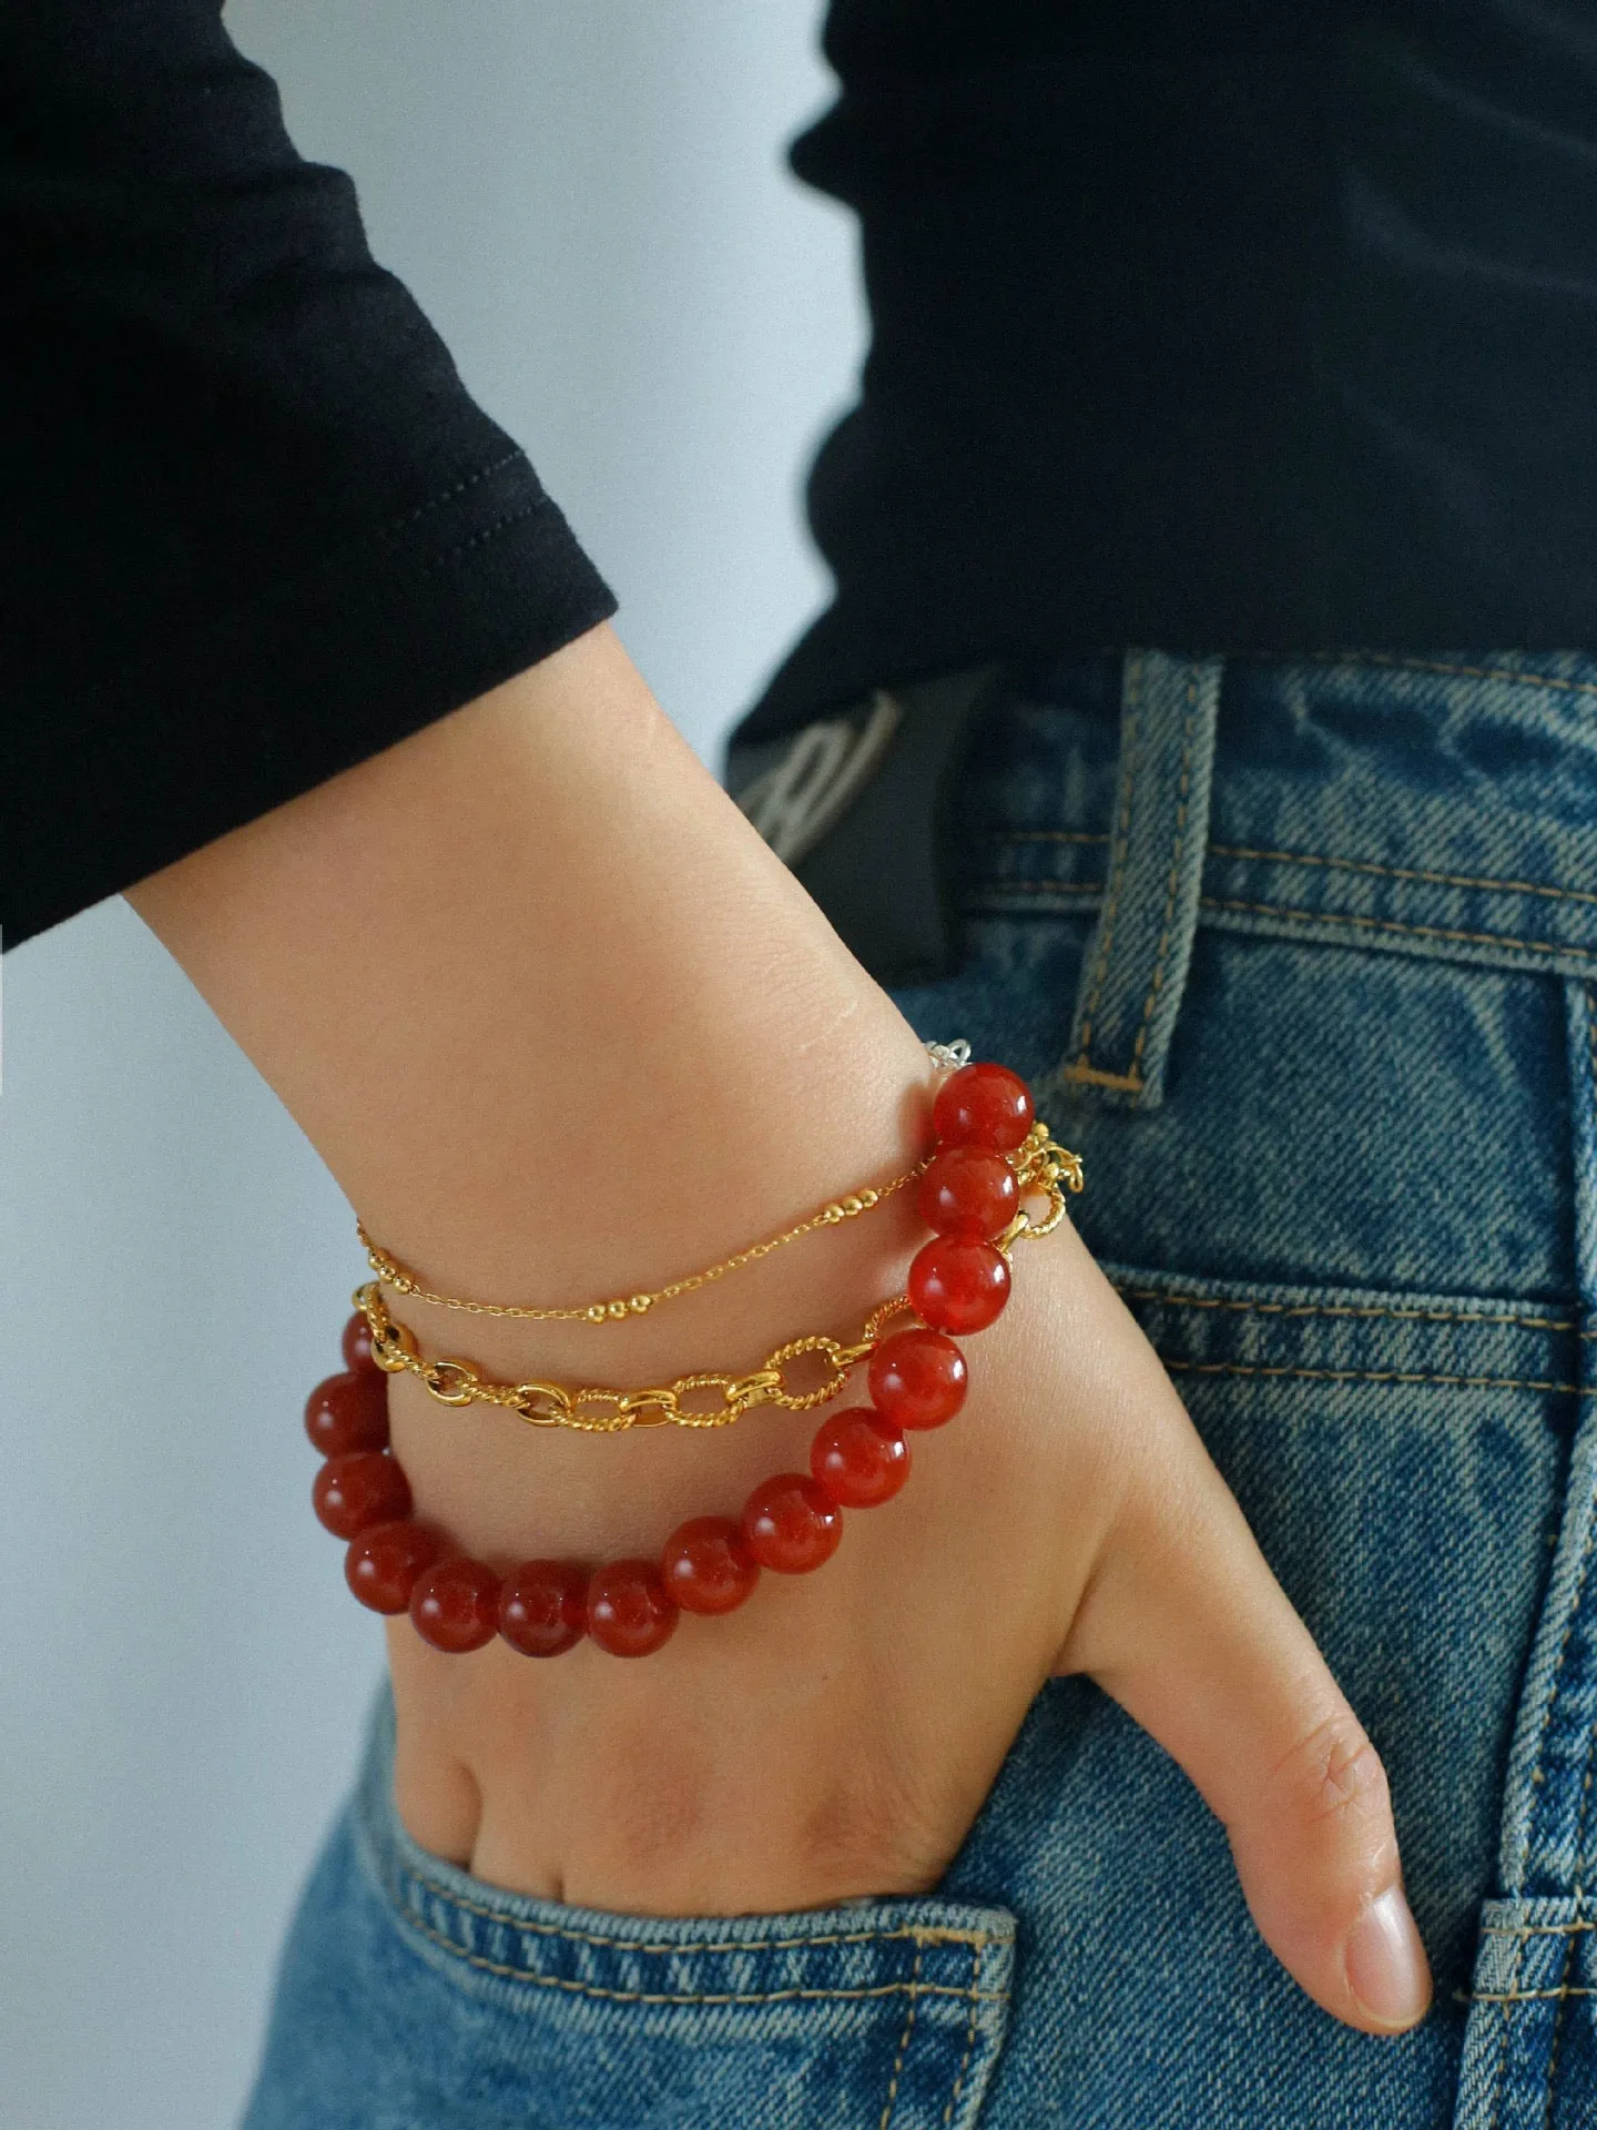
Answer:
[(1192, 1776), (1261, 1936), (1314, 2002), (1401, 2032), (1431, 1972), (1386, 1770), (1184, 1414), (1173, 1463), (1105, 1542), (1060, 1670), (1097, 1678)]

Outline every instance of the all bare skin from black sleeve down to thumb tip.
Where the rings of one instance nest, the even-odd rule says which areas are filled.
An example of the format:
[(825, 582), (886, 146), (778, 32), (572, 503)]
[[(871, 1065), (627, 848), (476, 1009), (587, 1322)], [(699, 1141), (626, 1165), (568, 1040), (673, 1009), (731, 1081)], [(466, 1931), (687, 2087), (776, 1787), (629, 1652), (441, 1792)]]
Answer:
[[(913, 1031), (607, 626), (128, 899), (368, 1229), (447, 1293), (656, 1287), (926, 1137)], [(620, 1325), (396, 1314), (424, 1353), (520, 1380), (752, 1367), (901, 1289), (907, 1197)], [(903, 1495), (850, 1514), (820, 1574), (764, 1574), (645, 1661), (445, 1657), (392, 1621), (407, 1828), (496, 1885), (628, 1913), (924, 1891), (1037, 1687), (1084, 1672), (1224, 1821), (1303, 1989), (1412, 2024), (1401, 1894), (1412, 2000), (1380, 2017), (1367, 1940), (1350, 1955), (1401, 1883), (1380, 1759), (1069, 1223), (1016, 1250), (1014, 1301), (967, 1350), (967, 1408), (911, 1436)], [(417, 1512), (498, 1568), (654, 1553), (807, 1470), (816, 1427), (767, 1408), (594, 1440), (445, 1410), (409, 1376), (390, 1410)]]

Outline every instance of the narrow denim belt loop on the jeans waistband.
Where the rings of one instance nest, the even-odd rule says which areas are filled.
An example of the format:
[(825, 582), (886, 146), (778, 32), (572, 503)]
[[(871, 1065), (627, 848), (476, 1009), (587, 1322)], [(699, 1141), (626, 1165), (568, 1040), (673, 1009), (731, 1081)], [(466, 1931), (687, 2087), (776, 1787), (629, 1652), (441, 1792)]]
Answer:
[(1131, 1110), (1165, 1097), (1192, 958), (1224, 658), (1126, 652), (1103, 910), (1054, 1084)]

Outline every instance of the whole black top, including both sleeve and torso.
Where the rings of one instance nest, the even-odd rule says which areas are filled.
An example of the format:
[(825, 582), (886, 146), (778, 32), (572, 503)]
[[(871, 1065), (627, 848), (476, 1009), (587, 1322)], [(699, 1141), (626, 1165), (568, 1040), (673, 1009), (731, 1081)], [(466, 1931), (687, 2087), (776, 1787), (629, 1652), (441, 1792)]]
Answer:
[[(1597, 643), (1591, 9), (835, 0), (826, 51), (792, 158), (873, 341), (745, 733), (1009, 654)], [(6, 11), (0, 230), (6, 946), (613, 611), (217, 0)]]

